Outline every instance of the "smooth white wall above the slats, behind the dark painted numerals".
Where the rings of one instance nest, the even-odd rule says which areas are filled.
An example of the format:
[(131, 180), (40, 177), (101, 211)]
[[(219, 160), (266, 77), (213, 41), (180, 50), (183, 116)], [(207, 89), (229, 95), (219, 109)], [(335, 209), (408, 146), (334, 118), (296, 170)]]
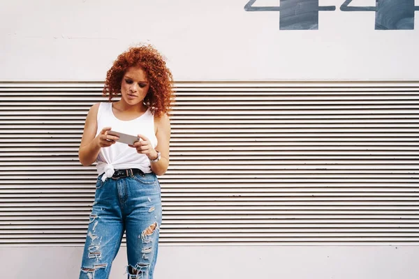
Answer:
[(317, 31), (279, 31), (279, 12), (246, 12), (247, 1), (3, 1), (0, 80), (103, 80), (138, 42), (166, 54), (177, 80), (419, 79), (418, 13), (415, 30), (379, 31), (374, 12), (321, 0), (337, 8)]

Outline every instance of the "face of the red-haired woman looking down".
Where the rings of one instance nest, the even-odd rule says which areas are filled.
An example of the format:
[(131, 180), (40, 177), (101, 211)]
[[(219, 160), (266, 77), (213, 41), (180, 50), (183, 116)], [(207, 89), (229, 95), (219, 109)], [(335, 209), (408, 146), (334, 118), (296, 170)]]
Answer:
[(142, 104), (148, 89), (149, 82), (147, 80), (147, 73), (142, 68), (128, 68), (124, 77), (122, 77), (121, 100), (128, 105)]

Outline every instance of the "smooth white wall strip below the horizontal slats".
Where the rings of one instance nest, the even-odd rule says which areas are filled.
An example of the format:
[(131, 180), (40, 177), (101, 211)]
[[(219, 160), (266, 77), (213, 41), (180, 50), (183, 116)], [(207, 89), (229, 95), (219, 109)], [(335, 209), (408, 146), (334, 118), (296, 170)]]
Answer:
[[(110, 279), (125, 278), (125, 253), (121, 248)], [(418, 249), (409, 246), (163, 246), (159, 253), (156, 279), (419, 278)], [(3, 248), (0, 270), (2, 278), (74, 279), (80, 272), (81, 254), (82, 248), (72, 247)]]

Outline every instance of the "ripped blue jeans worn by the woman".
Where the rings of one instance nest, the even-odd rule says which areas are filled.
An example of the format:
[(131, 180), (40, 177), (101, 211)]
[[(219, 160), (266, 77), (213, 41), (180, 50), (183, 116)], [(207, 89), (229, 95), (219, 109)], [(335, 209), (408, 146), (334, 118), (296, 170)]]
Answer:
[(153, 173), (105, 182), (101, 176), (96, 182), (80, 279), (109, 277), (124, 232), (128, 279), (152, 279), (161, 225), (159, 181)]

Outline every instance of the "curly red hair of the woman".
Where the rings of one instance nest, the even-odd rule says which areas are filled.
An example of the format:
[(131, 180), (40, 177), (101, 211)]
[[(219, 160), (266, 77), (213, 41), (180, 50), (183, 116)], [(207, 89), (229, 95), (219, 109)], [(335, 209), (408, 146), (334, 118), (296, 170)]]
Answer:
[(173, 77), (166, 67), (166, 59), (152, 45), (130, 47), (119, 54), (106, 74), (103, 95), (108, 96), (109, 100), (120, 96), (122, 78), (131, 67), (140, 67), (147, 73), (149, 90), (144, 103), (156, 116), (168, 114), (175, 96), (172, 89)]

